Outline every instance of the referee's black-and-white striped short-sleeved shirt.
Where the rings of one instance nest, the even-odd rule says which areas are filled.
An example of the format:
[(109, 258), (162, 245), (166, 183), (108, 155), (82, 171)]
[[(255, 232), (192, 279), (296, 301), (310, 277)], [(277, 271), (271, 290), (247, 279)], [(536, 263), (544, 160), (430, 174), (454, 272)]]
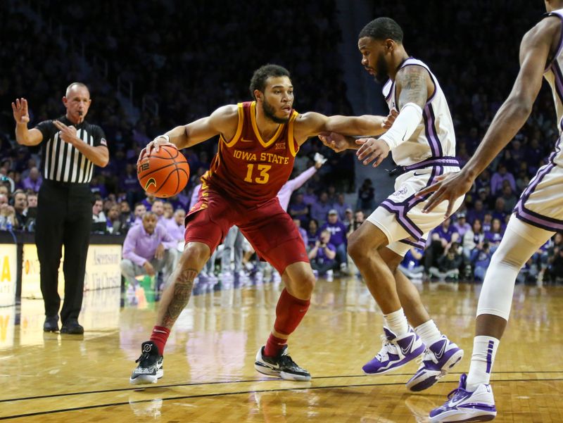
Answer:
[[(84, 122), (75, 125), (65, 116), (57, 119), (67, 126), (76, 127), (76, 135), (91, 146), (108, 146), (106, 136), (98, 125)], [(52, 120), (44, 120), (37, 127), (43, 134), (43, 178), (58, 182), (88, 184), (94, 173), (94, 163), (84, 154), (60, 138), (58, 129)]]

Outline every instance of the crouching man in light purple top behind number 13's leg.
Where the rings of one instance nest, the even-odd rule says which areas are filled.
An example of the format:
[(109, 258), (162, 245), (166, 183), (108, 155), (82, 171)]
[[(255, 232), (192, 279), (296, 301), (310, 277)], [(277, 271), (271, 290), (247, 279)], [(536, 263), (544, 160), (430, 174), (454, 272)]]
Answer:
[(129, 284), (134, 284), (135, 277), (141, 274), (154, 276), (162, 270), (166, 280), (172, 273), (177, 258), (177, 241), (156, 222), (156, 215), (147, 212), (142, 225), (132, 227), (125, 236), (121, 274)]

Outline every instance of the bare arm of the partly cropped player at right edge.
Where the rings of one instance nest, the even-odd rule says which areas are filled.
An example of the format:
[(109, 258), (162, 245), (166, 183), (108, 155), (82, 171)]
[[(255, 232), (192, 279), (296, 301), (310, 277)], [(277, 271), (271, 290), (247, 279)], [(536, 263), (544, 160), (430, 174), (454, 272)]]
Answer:
[(429, 212), (442, 201), (448, 201), (446, 216), (449, 216), (456, 198), (471, 189), (477, 175), (524, 125), (540, 91), (545, 64), (550, 58), (550, 51), (557, 44), (555, 39), (559, 40), (560, 30), (559, 18), (549, 17), (524, 35), (520, 44), (520, 71), (510, 95), (500, 106), (479, 148), (461, 172), (440, 177), (439, 182), (419, 192), (419, 196), (434, 192), (424, 211)]

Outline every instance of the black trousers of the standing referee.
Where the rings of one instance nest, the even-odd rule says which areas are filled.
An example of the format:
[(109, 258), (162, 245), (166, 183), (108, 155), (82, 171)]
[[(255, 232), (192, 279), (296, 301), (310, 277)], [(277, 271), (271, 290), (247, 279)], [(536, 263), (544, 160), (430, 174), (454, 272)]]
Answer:
[(84, 272), (92, 224), (88, 184), (44, 180), (37, 198), (35, 245), (41, 272), (41, 292), (47, 317), (58, 315), (58, 267), (65, 246), (65, 301), (61, 322), (77, 320), (82, 308)]

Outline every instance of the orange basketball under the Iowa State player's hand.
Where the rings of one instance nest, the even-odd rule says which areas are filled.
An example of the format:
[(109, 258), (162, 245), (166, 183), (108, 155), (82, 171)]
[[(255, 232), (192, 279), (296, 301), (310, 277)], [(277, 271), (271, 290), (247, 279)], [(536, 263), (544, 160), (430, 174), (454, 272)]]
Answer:
[(189, 180), (189, 165), (175, 146), (160, 146), (151, 151), (137, 165), (137, 177), (141, 187), (160, 198), (179, 194)]

